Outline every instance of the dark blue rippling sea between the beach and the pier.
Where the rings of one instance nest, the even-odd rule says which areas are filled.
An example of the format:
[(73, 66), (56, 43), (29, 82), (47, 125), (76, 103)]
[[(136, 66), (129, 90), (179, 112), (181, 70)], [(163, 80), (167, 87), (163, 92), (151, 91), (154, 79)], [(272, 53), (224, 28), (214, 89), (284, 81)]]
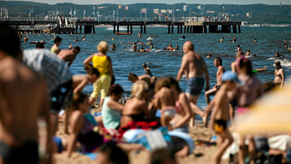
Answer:
[[(83, 28), (84, 29), (84, 28)], [(113, 27), (100, 27), (95, 28), (96, 33), (86, 34), (86, 41), (82, 41), (83, 34), (58, 34), (63, 38), (61, 49), (67, 49), (72, 43), (73, 46), (79, 46), (81, 52), (77, 55), (76, 60), (73, 62), (70, 70), (74, 75), (85, 74), (83, 69), (83, 61), (91, 54), (96, 53), (96, 46), (102, 40), (107, 37), (108, 45), (117, 43), (116, 51), (109, 51), (107, 54), (111, 57), (113, 63), (113, 72), (116, 78), (116, 83), (120, 84), (128, 94), (132, 82), (127, 80), (129, 73), (136, 73), (136, 75), (143, 75), (145, 71), (142, 68), (143, 63), (147, 63), (148, 67), (154, 76), (158, 78), (162, 77), (176, 77), (181, 65), (181, 59), (183, 53), (181, 50), (176, 52), (133, 52), (131, 51), (132, 44), (128, 42), (134, 42), (139, 40), (146, 43), (149, 41), (148, 34), (152, 34), (152, 43), (154, 48), (162, 49), (168, 47), (169, 44), (173, 44), (173, 47), (179, 45), (181, 48), (185, 40), (179, 40), (183, 34), (168, 34), (167, 27), (148, 27), (147, 33), (142, 34), (141, 38), (137, 37), (137, 33), (140, 32), (140, 27), (133, 27), (132, 35), (119, 35), (113, 34)], [(207, 29), (208, 31), (208, 29)], [(256, 73), (255, 75), (261, 80), (261, 82), (273, 82), (274, 81), (274, 61), (279, 60), (283, 69), (285, 70), (286, 77), (290, 76), (291, 69), (291, 50), (288, 47), (284, 47), (283, 42), (287, 39), (287, 45), (291, 47), (290, 33), (291, 27), (242, 27), (242, 33), (185, 33), (187, 40), (194, 43), (194, 51), (200, 54), (205, 60), (208, 71), (210, 74), (210, 87), (216, 84), (216, 72), (217, 68), (214, 67), (213, 61), (216, 57), (222, 59), (222, 66), (226, 70), (231, 70), (230, 63), (235, 61), (236, 48), (239, 44), (242, 50), (246, 53), (247, 49), (251, 50), (251, 54), (256, 54), (256, 57), (251, 56), (249, 59), (252, 61), (253, 69), (264, 68), (267, 66), (267, 71)], [(126, 27), (120, 27), (120, 32), (126, 32)], [(174, 28), (174, 32), (177, 29)], [(154, 35), (157, 37), (154, 38)], [(229, 36), (229, 37), (228, 37)], [(236, 43), (230, 43), (233, 36), (237, 38)], [(53, 37), (55, 37), (53, 35)], [(79, 42), (73, 42), (75, 38), (79, 37)], [(220, 43), (221, 37), (224, 37), (224, 42)], [(289, 37), (289, 38), (288, 38)], [(48, 42), (51, 38), (49, 35), (29, 34), (29, 41), (41, 41), (46, 40), (47, 44), (45, 49), (50, 49), (53, 42)], [(257, 38), (258, 42), (253, 42), (254, 38)], [(111, 40), (113, 39), (113, 40)], [(22, 43), (23, 49), (34, 48), (34, 44)], [(138, 45), (139, 47), (150, 48), (150, 45)], [(126, 48), (124, 48), (126, 47)], [(276, 51), (286, 56), (286, 58), (275, 58)], [(211, 58), (206, 58), (208, 53), (212, 53)], [(180, 81), (180, 87), (183, 91), (186, 90), (187, 82), (183, 77)], [(85, 89), (85, 92), (91, 93), (93, 91), (92, 84), (89, 84)], [(206, 107), (204, 89), (201, 93), (197, 105), (201, 108)]]

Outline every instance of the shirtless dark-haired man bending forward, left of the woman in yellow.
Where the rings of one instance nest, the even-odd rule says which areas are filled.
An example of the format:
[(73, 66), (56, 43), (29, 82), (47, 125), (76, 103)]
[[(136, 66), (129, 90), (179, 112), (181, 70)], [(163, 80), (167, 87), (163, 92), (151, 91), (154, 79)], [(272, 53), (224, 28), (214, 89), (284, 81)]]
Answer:
[(68, 64), (68, 67), (73, 63), (73, 61), (76, 59), (77, 54), (80, 52), (80, 47), (76, 46), (72, 48), (71, 50), (61, 50), (60, 53), (58, 53), (58, 57), (63, 59), (65, 62), (70, 61)]

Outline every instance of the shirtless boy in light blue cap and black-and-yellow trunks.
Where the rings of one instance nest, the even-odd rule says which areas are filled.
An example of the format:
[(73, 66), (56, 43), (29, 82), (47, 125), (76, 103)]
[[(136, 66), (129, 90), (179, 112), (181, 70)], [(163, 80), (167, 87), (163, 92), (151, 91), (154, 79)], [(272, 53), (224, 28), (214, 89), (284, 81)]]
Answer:
[[(227, 91), (235, 89), (235, 83), (239, 82), (237, 75), (231, 71), (223, 73), (222, 81), (221, 89), (215, 94), (214, 103), (211, 103), (212, 105), (207, 107), (207, 110), (208, 108), (212, 108), (212, 106), (215, 109), (211, 114), (209, 122), (209, 128), (214, 129), (217, 133), (218, 150), (213, 156), (215, 164), (219, 163), (224, 151), (233, 143), (233, 137), (226, 127), (226, 121), (229, 115), (228, 97), (226, 93)], [(226, 139), (228, 139), (228, 142), (225, 142)]]

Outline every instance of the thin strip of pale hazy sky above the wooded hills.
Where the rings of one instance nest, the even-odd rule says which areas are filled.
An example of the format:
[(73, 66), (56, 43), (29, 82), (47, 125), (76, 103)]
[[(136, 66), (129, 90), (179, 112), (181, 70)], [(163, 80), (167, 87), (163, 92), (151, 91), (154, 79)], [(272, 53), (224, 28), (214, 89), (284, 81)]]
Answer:
[[(132, 3), (168, 3), (174, 4), (177, 3), (177, 0), (147, 0), (147, 1), (130, 1), (130, 0), (24, 0), (24, 1), (34, 1), (48, 4), (56, 3), (65, 3), (71, 2), (73, 4), (102, 4), (102, 3), (116, 3), (116, 4), (132, 4)], [(282, 4), (291, 5), (291, 0), (281, 0)], [(203, 2), (203, 3), (201, 3)], [(198, 3), (198, 4), (255, 4), (255, 3), (264, 3), (269, 5), (280, 5), (280, 0), (183, 0), (178, 3)]]

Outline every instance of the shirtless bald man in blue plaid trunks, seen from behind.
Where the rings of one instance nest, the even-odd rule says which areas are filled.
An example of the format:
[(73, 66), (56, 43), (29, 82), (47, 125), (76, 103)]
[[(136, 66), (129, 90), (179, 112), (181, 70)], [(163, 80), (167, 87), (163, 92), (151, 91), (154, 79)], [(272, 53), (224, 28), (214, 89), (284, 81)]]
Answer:
[[(205, 73), (206, 79), (205, 91), (209, 90), (208, 70), (204, 60), (193, 51), (194, 45), (192, 42), (185, 42), (183, 48), (185, 55), (182, 58), (182, 64), (177, 75), (177, 81), (179, 82), (182, 78), (183, 73), (185, 73), (186, 80), (188, 80), (188, 86), (185, 94), (188, 101), (193, 104), (192, 106), (196, 106), (196, 101), (198, 100), (201, 90), (204, 87), (203, 72)], [(194, 117), (190, 119), (189, 126), (194, 126)]]

